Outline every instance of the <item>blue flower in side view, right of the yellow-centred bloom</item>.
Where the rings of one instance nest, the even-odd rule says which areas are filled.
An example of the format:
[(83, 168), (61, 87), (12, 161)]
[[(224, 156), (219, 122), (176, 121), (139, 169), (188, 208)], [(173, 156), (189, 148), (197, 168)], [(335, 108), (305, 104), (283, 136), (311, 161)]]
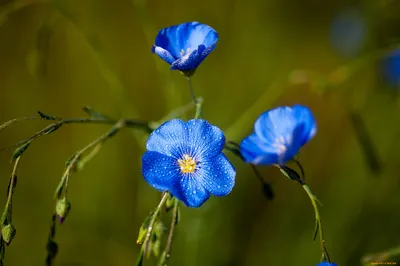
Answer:
[(317, 132), (314, 117), (305, 106), (278, 107), (261, 114), (254, 133), (240, 143), (245, 162), (283, 165)]

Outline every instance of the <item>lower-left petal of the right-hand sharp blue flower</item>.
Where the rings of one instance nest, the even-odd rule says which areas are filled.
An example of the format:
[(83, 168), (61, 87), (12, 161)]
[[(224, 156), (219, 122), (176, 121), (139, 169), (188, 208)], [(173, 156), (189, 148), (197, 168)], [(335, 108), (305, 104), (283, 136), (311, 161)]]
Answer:
[(278, 150), (271, 144), (263, 142), (255, 133), (242, 140), (240, 153), (246, 163), (254, 165), (279, 163)]

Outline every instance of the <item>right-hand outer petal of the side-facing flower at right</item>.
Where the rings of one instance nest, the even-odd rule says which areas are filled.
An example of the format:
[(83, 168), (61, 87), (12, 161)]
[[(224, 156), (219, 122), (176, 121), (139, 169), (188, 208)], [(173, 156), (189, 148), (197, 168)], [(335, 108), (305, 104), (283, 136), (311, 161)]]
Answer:
[(317, 124), (315, 122), (312, 112), (306, 106), (293, 106), (293, 116), (296, 120), (298, 120), (299, 124), (304, 124), (303, 132), (298, 133), (298, 141), (300, 142), (301, 147), (315, 136), (315, 134), (317, 133)]

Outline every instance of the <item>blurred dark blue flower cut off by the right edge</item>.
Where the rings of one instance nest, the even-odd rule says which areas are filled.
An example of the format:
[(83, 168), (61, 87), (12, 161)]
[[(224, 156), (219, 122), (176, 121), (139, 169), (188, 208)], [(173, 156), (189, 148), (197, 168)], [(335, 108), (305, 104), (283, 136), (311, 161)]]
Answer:
[(383, 60), (383, 77), (390, 85), (400, 88), (400, 49), (387, 54)]

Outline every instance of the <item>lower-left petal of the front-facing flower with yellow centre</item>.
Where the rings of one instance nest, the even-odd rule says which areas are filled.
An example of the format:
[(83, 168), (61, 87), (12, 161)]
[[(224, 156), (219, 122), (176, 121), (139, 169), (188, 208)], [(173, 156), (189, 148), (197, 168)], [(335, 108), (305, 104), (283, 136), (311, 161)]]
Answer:
[(180, 179), (176, 159), (154, 151), (143, 154), (142, 174), (147, 183), (159, 191), (169, 191), (171, 184)]

